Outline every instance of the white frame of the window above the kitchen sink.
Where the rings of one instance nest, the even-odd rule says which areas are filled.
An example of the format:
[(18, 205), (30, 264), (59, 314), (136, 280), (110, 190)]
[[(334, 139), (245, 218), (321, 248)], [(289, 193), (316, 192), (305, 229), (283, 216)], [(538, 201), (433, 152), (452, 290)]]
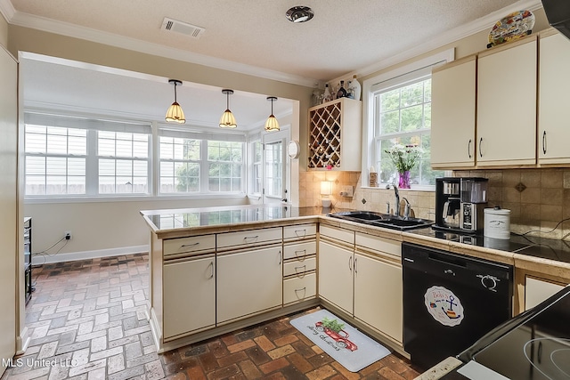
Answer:
[[(385, 71), (375, 77), (370, 77), (362, 83), (362, 174), (361, 187), (372, 188), (369, 182), (371, 167), (376, 166), (376, 139), (375, 127), (375, 93), (379, 92), (379, 84), (385, 87), (396, 87), (399, 84), (411, 82), (414, 78), (425, 77), (422, 70), (436, 67), (454, 60), (454, 49), (448, 49), (436, 53), (422, 60), (412, 62), (397, 69)], [(379, 183), (379, 188), (384, 189), (387, 183)], [(434, 191), (435, 185), (413, 185), (411, 190)]]

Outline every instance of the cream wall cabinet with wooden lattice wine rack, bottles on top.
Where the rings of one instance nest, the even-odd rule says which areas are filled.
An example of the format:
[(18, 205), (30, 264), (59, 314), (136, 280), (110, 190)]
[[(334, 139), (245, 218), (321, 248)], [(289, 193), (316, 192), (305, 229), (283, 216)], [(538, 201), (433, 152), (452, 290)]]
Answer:
[(361, 170), (362, 101), (340, 98), (309, 109), (308, 167)]

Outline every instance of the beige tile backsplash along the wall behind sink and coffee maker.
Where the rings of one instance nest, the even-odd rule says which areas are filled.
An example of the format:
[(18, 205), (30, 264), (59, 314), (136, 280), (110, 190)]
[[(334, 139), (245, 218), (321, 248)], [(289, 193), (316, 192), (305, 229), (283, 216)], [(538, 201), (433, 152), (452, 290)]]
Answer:
[[(511, 210), (511, 230), (550, 239), (570, 239), (570, 169), (504, 169), (456, 171), (453, 176), (485, 177), (489, 179), (489, 206)], [(386, 212), (387, 202), (394, 209), (394, 190), (362, 188), (360, 172), (302, 172), (300, 174), (299, 206), (321, 206), (321, 182), (332, 184), (332, 205)], [(340, 196), (343, 185), (354, 187), (354, 197)], [(400, 198), (407, 198), (416, 217), (435, 219), (436, 197), (433, 191), (400, 190)], [(403, 209), (403, 207), (402, 207)], [(553, 230), (550, 232), (550, 230)]]

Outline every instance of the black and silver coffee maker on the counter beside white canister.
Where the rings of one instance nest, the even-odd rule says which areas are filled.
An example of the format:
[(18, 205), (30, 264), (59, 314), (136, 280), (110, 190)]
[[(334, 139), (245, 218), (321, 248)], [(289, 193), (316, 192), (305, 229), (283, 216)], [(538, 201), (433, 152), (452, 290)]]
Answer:
[(436, 178), (436, 223), (433, 228), (482, 232), (488, 182), (480, 177)]

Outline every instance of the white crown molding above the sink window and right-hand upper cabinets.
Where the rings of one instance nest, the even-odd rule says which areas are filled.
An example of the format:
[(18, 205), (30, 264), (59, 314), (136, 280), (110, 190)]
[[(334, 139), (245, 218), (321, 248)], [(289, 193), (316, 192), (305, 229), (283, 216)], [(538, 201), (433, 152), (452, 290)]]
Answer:
[(461, 38), (472, 36), (483, 30), (490, 30), (493, 27), (494, 23), (497, 22), (497, 20), (501, 20), (501, 18), (505, 17), (510, 12), (517, 12), (525, 9), (532, 12), (539, 8), (542, 8), (541, 0), (520, 0), (515, 4), (511, 4), (505, 8), (501, 8), (499, 11), (489, 13), (486, 16), (481, 17), (480, 19), (473, 20), (457, 28), (452, 28), (444, 32), (441, 36), (437, 36), (433, 39), (430, 39), (425, 43), (418, 44), (414, 48), (405, 50), (401, 53), (396, 53), (395, 55), (387, 58), (386, 60), (379, 61), (370, 66), (354, 70), (341, 77), (330, 79), (329, 82), (337, 83), (341, 79), (345, 80), (346, 77), (352, 78), (354, 75), (357, 75), (358, 77), (365, 77), (371, 75), (382, 69), (387, 69), (390, 66), (394, 66), (403, 61), (407, 61), (414, 57), (418, 57), (421, 54), (434, 51), (446, 44), (452, 44), (456, 41), (459, 41)]

